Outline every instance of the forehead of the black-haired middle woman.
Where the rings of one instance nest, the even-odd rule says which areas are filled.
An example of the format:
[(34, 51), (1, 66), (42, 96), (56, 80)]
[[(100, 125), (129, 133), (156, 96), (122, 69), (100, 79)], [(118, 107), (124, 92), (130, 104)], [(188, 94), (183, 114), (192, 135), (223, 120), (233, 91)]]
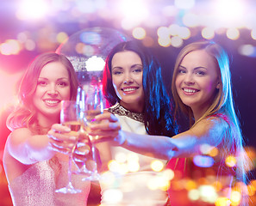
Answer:
[(134, 51), (120, 51), (112, 58), (112, 66), (116, 64), (141, 64), (140, 56)]

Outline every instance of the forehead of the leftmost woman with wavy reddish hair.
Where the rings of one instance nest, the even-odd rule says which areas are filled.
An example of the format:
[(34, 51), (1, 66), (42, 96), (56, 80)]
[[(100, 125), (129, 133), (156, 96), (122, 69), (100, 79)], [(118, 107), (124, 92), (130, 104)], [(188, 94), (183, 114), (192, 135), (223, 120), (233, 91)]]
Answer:
[(46, 64), (42, 69), (39, 77), (69, 77), (66, 67), (59, 62), (52, 62)]

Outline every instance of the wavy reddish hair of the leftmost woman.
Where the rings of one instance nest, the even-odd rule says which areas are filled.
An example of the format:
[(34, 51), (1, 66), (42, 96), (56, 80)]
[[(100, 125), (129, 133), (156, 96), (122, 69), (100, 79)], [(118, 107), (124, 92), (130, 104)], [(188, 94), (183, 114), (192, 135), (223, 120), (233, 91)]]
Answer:
[(71, 100), (75, 100), (78, 88), (78, 79), (71, 62), (61, 54), (54, 52), (43, 53), (28, 65), (22, 82), (18, 90), (19, 104), (14, 112), (9, 114), (7, 118), (7, 126), (9, 130), (15, 130), (21, 127), (28, 127), (30, 130), (38, 130), (37, 120), (35, 118), (35, 109), (33, 105), (33, 96), (36, 90), (38, 77), (42, 68), (53, 62), (59, 62), (66, 67), (70, 78)]

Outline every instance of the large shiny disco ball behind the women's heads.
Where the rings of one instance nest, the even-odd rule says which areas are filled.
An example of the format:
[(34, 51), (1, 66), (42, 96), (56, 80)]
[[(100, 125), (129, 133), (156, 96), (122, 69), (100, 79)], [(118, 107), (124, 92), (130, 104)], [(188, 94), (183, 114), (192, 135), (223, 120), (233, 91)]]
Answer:
[(130, 40), (128, 36), (108, 27), (89, 27), (72, 34), (59, 45), (56, 52), (68, 58), (80, 83), (89, 82), (91, 76), (102, 77), (105, 59), (111, 49)]

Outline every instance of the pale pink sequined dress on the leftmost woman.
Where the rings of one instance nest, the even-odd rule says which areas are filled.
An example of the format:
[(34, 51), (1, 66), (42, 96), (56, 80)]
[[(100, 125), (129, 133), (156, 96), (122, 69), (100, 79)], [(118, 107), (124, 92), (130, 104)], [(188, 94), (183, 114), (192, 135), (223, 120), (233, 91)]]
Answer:
[[(41, 161), (29, 167), (21, 176), (9, 183), (14, 206), (85, 206), (90, 182), (72, 175), (72, 185), (82, 190), (78, 194), (56, 193), (67, 184), (67, 162)], [(58, 175), (56, 175), (58, 173)]]

